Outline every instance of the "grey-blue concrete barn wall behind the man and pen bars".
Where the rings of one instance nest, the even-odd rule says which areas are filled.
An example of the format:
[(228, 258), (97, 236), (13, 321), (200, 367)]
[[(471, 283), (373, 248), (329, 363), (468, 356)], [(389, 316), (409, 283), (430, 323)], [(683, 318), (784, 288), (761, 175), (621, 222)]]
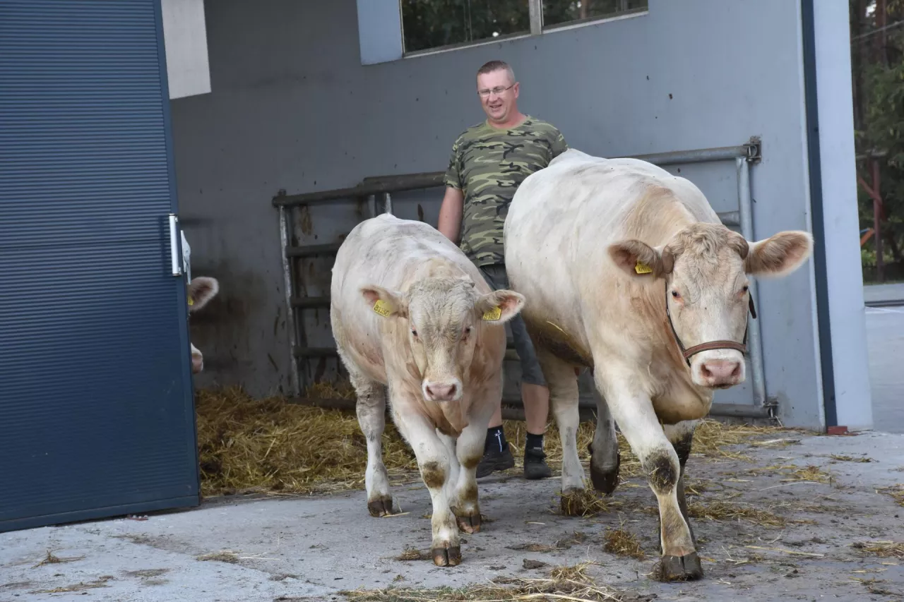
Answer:
[[(253, 8), (217, 0), (205, 9), (214, 91), (173, 101), (192, 272), (222, 283), (219, 303), (193, 316), (205, 357), (201, 386), (241, 382), (258, 395), (289, 388), (273, 194), (444, 169), (455, 136), (484, 118), (474, 73), (492, 58), (513, 64), (525, 112), (589, 153), (732, 146), (761, 136), (764, 158), (751, 174), (755, 236), (810, 230), (797, 2), (651, 0), (648, 14), (632, 18), (370, 66), (361, 65), (354, 0), (260, 0)], [(717, 211), (734, 208), (733, 164), (682, 174)], [(398, 212), (416, 216), (419, 204), (435, 224), (440, 197), (397, 202)], [(359, 215), (352, 206), (315, 208), (302, 220), (309, 234), (301, 242), (336, 240)], [(328, 289), (329, 265), (306, 268), (308, 294)], [(819, 428), (813, 278), (808, 264), (762, 281), (758, 310), (767, 395), (786, 424)], [(308, 343), (332, 346), (327, 312), (308, 314)], [(748, 397), (733, 390), (719, 400)]]

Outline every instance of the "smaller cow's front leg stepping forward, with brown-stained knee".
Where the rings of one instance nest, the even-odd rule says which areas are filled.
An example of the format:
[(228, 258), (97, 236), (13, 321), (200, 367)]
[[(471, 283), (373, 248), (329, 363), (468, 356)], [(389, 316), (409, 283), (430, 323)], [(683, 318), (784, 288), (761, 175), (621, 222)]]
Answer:
[(406, 408), (400, 411), (393, 401), (393, 416), (402, 437), (409, 442), (418, 458), (420, 478), (427, 485), (433, 503), (433, 518), (430, 521), (433, 531), (433, 542), (430, 545), (433, 563), (438, 567), (454, 567), (461, 562), (461, 544), (458, 541), (455, 515), (449, 508), (446, 494), (449, 452), (438, 437), (434, 425), (417, 413), (416, 404), (408, 401), (402, 403)]

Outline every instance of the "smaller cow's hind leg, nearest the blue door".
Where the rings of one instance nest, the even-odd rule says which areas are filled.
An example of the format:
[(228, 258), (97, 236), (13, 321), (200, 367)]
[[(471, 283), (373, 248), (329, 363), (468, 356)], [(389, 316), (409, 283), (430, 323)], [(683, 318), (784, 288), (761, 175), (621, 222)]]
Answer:
[(371, 516), (392, 513), (390, 478), (383, 464), (383, 430), (386, 428), (386, 394), (381, 383), (365, 377), (346, 364), (350, 380), (357, 393), (355, 410), (358, 424), (367, 439), (367, 470), (364, 486), (367, 489), (367, 510)]

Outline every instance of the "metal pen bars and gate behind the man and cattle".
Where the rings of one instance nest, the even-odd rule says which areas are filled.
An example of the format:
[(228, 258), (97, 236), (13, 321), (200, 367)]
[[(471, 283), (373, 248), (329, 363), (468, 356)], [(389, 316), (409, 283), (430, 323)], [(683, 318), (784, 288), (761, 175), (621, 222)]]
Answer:
[[(652, 155), (632, 155), (629, 158), (643, 159), (660, 166), (734, 161), (738, 175), (738, 210), (720, 212), (719, 217), (722, 223), (729, 228), (739, 229), (747, 240), (754, 240), (750, 165), (758, 163), (761, 159), (761, 146), (758, 137), (751, 137), (747, 143), (740, 146), (720, 146), (716, 148), (655, 153)], [(293, 401), (325, 408), (354, 409), (353, 400), (323, 400), (303, 397), (303, 393), (306, 390), (306, 379), (303, 378), (302, 366), (304, 366), (304, 372), (306, 372), (308, 360), (336, 357), (336, 352), (334, 348), (306, 346), (304, 321), (301, 319), (300, 312), (304, 309), (328, 308), (329, 296), (299, 295), (296, 264), (299, 259), (334, 255), (336, 250), (339, 249), (340, 243), (295, 246), (293, 212), (302, 207), (332, 204), (334, 202), (367, 202), (370, 217), (374, 217), (378, 213), (392, 212), (391, 193), (436, 188), (442, 186), (442, 183), (443, 172), (387, 175), (365, 177), (360, 184), (353, 188), (302, 194), (286, 194), (284, 191), (279, 191), (277, 196), (273, 197), (272, 203), (279, 211), (279, 238), (282, 245), (282, 267), (288, 308), (287, 329), (292, 353), (291, 376), (292, 389), (295, 395)], [(381, 200), (379, 202), (381, 207), (378, 207), (378, 197)], [(750, 296), (753, 298), (754, 303), (759, 306), (757, 285), (753, 280), (750, 282)], [(505, 359), (508, 361), (517, 359), (517, 354), (514, 352), (511, 342), (509, 343)], [(773, 418), (775, 403), (770, 402), (766, 398), (762, 339), (758, 320), (753, 320), (749, 324), (749, 362), (753, 403), (713, 403), (710, 412), (712, 416), (753, 419)], [(593, 394), (597, 395), (598, 393), (593, 391)], [(504, 408), (504, 417), (506, 419), (523, 419), (523, 407), (521, 407), (520, 397), (513, 399), (506, 397), (504, 398), (504, 405), (508, 406)], [(588, 419), (591, 415), (591, 410), (595, 408), (595, 400), (582, 399), (580, 402), (581, 419)]]

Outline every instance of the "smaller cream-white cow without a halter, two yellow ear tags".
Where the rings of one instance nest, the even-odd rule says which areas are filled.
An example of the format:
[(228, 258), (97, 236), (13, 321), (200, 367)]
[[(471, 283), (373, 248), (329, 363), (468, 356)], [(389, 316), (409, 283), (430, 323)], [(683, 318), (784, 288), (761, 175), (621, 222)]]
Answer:
[(367, 437), (367, 508), (392, 512), (381, 437), (392, 419), (433, 502), (433, 562), (461, 561), (458, 529), (480, 530), (476, 467), (503, 390), (504, 323), (524, 297), (493, 291), (438, 230), (390, 214), (349, 232), (336, 253), (330, 320)]

